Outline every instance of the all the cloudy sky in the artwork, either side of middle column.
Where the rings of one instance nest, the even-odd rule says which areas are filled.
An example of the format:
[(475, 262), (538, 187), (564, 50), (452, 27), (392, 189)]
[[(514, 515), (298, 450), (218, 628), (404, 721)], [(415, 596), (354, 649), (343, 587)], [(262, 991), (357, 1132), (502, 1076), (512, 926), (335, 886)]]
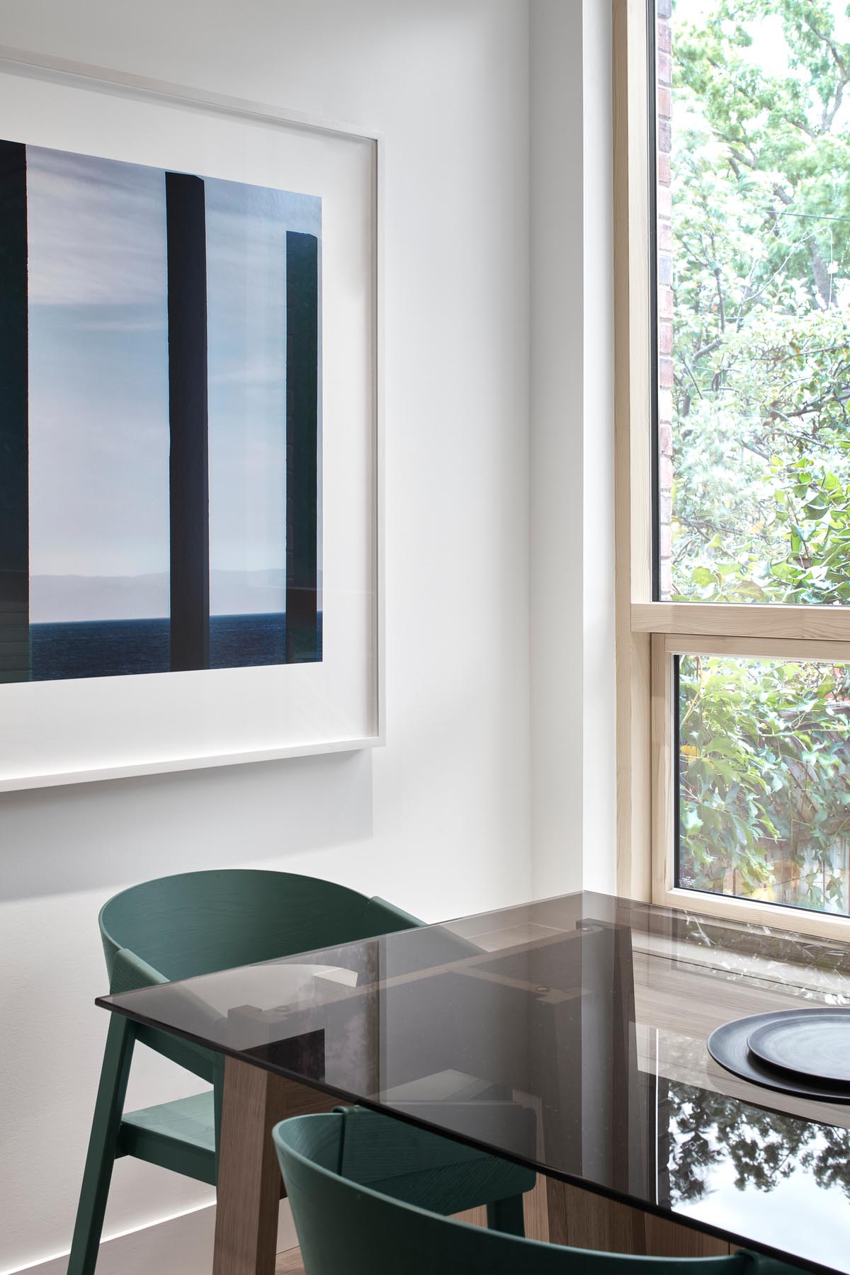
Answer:
[[(27, 148), (32, 620), (168, 613), (162, 170)], [(206, 180), (210, 609), (285, 597), (285, 232), (317, 198)]]

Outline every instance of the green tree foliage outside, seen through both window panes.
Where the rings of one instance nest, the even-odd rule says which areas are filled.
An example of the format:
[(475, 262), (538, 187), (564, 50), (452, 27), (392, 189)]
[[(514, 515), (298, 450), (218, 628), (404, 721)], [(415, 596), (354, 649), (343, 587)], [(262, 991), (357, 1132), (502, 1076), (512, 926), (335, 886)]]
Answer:
[[(673, 11), (674, 598), (850, 604), (846, 17)], [(779, 859), (847, 909), (849, 704), (847, 666), (682, 660), (682, 885), (784, 898)]]

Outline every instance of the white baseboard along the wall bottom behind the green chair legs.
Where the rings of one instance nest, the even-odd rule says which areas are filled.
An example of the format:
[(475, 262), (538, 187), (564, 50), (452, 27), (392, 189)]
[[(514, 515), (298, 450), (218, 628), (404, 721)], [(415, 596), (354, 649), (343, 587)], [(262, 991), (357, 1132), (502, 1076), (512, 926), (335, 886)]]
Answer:
[[(167, 1218), (149, 1227), (106, 1238), (97, 1260), (97, 1275), (210, 1275), (215, 1205)], [(289, 1201), (280, 1201), (278, 1252), (297, 1244)], [(4, 1275), (66, 1275), (68, 1253), (19, 1266)]]

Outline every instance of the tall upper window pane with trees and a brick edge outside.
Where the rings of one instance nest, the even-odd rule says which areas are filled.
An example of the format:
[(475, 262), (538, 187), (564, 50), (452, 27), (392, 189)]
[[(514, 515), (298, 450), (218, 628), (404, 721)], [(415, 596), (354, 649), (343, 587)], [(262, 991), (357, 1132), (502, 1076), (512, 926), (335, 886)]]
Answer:
[(658, 0), (658, 595), (850, 603), (850, 5)]

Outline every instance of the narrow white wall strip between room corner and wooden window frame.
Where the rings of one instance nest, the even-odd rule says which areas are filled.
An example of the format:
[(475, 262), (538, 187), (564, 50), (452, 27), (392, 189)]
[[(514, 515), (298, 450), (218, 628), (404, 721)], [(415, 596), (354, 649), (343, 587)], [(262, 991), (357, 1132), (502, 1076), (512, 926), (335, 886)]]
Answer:
[(610, 0), (530, 9), (535, 898), (614, 891)]

